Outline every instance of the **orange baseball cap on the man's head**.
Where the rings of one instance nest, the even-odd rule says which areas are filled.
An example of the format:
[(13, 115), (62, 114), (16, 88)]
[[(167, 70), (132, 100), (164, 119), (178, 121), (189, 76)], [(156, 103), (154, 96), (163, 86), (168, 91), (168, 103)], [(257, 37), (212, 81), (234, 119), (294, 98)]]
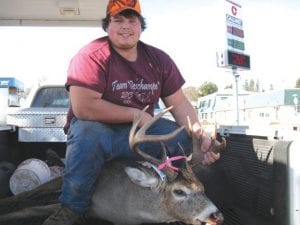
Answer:
[(125, 9), (131, 9), (141, 14), (139, 0), (109, 0), (106, 8), (106, 14), (115, 16)]

